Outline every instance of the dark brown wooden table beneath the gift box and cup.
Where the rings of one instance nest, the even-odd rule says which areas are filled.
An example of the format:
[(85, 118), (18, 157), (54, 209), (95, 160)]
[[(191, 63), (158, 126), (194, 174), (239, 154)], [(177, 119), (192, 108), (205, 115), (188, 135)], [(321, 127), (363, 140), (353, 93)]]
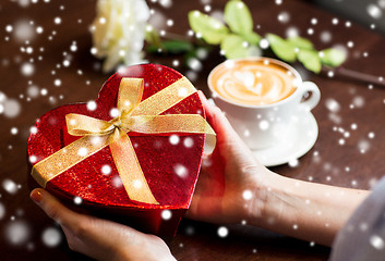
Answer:
[[(204, 1), (172, 2), (169, 9), (158, 3), (151, 5), (166, 20), (173, 20), (173, 26), (165, 25), (167, 32), (185, 35), (189, 29), (187, 12), (204, 10)], [(212, 2), (213, 11), (222, 10), (226, 3), (225, 0), (208, 2)], [(245, 2), (252, 10), (257, 33), (285, 36), (288, 29), (294, 28), (311, 38), (318, 49), (333, 45), (347, 47), (352, 41), (353, 46), (348, 48), (349, 59), (344, 66), (385, 76), (385, 39), (371, 32), (369, 26), (347, 26), (347, 21), (340, 17), (334, 25), (334, 15), (304, 1), (282, 1), (281, 4), (262, 0)], [(288, 21), (279, 22), (279, 14)], [(0, 86), (1, 95), (7, 96), (8, 102), (5, 111), (0, 114), (1, 260), (86, 259), (69, 250), (62, 234), (59, 234), (61, 243), (58, 246), (44, 244), (41, 238), (47, 228), (59, 229), (28, 198), (26, 142), (31, 126), (43, 113), (61, 104), (95, 99), (108, 78), (109, 75), (99, 70), (100, 61), (89, 52), (92, 41), (88, 26), (94, 15), (95, 1), (91, 0), (48, 3), (40, 0), (28, 7), (21, 7), (17, 1), (0, 3)], [(60, 17), (60, 23), (56, 17)], [(316, 24), (311, 23), (313, 17), (317, 20)], [(26, 27), (29, 21), (33, 23), (32, 35), (35, 37), (29, 44), (17, 41), (16, 28), (23, 26), (17, 23), (23, 21)], [(12, 25), (13, 32), (8, 32), (10, 27), (7, 25)], [(43, 27), (40, 34), (36, 33), (38, 26)], [(309, 28), (314, 29), (312, 35), (308, 34)], [(27, 36), (27, 30), (22, 37)], [(321, 35), (330, 36), (330, 41), (323, 42)], [(75, 51), (71, 48), (73, 42)], [(71, 61), (70, 66), (63, 65), (65, 59)], [(198, 89), (208, 95), (208, 72), (224, 59), (215, 50), (203, 61), (204, 66), (197, 73), (188, 72), (182, 65), (173, 66), (173, 60), (182, 64), (181, 57), (148, 57), (148, 60), (187, 74)], [(27, 75), (28, 72), (31, 75)], [(320, 136), (314, 148), (299, 160), (298, 166), (281, 165), (273, 170), (304, 181), (371, 188), (385, 173), (384, 87), (305, 72), (303, 76), (316, 83), (322, 92), (321, 103), (313, 110)], [(58, 86), (55, 84), (59, 84), (57, 79), (61, 80)], [(9, 107), (15, 102), (15, 107), (19, 104), (21, 109), (20, 114), (10, 117), (9, 114), (14, 113), (15, 109), (10, 111)], [(1, 103), (4, 105), (4, 100)], [(15, 187), (12, 188), (12, 185)], [(329, 248), (260, 228), (230, 226), (226, 238), (217, 236), (217, 228), (218, 225), (184, 220), (177, 236), (168, 244), (172, 253), (181, 260), (327, 260), (329, 254)], [(53, 232), (51, 243), (55, 243), (55, 235)]]

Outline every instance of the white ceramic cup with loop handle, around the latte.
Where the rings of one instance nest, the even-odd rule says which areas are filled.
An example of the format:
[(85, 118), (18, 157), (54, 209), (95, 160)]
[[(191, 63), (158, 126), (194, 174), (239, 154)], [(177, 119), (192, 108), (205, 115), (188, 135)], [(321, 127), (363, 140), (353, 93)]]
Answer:
[[(263, 62), (266, 66), (280, 66), (292, 75), (294, 90), (288, 97), (268, 104), (244, 104), (222, 97), (216, 91), (212, 79), (224, 67), (243, 61)], [(232, 127), (251, 149), (264, 149), (290, 139), (290, 130), (296, 119), (303, 115), (304, 110), (312, 110), (321, 99), (318, 87), (312, 82), (303, 82), (300, 74), (290, 65), (270, 58), (245, 58), (227, 60), (217, 65), (208, 75), (208, 87), (212, 98), (230, 121)], [(311, 96), (309, 96), (311, 94)]]

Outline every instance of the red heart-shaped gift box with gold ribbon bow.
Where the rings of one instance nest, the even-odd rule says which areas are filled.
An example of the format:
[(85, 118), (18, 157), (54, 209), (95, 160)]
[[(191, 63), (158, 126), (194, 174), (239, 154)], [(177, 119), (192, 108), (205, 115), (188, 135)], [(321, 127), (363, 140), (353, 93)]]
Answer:
[(95, 102), (44, 114), (28, 139), (31, 173), (76, 211), (173, 235), (190, 207), (206, 134), (202, 102), (155, 64), (112, 75)]

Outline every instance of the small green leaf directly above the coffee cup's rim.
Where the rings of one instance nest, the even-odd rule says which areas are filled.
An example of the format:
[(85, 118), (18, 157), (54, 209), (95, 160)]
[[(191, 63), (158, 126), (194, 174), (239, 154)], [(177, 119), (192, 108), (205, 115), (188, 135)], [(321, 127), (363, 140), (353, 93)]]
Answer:
[(248, 57), (248, 47), (244, 46), (244, 40), (238, 35), (228, 35), (220, 44), (220, 49), (225, 51), (227, 59), (245, 58)]

